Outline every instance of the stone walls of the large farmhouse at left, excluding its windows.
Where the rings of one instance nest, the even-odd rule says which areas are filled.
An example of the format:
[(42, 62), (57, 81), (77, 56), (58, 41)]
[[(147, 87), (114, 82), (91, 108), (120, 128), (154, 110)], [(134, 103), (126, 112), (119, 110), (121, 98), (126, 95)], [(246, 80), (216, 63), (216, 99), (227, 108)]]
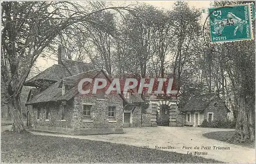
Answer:
[[(75, 97), (65, 107), (65, 120), (61, 120), (61, 103), (50, 104), (49, 119), (46, 119), (46, 108), (41, 108), (40, 119), (37, 120), (37, 108), (31, 108), (33, 129), (59, 132), (65, 134), (109, 134), (122, 133), (122, 99), (118, 94), (107, 95), (105, 100), (96, 97)], [(92, 105), (92, 120), (83, 119), (83, 105)], [(115, 119), (109, 120), (109, 106), (115, 106)], [(88, 130), (90, 129), (90, 130)]]

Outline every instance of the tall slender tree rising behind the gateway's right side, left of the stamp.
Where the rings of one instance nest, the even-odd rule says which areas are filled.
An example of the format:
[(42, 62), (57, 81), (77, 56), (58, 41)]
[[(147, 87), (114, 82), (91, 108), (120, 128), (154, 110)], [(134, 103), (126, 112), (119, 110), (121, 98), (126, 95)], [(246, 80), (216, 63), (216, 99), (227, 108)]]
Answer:
[(174, 42), (173, 45), (173, 72), (177, 81), (177, 90), (181, 87), (181, 74), (183, 67), (189, 56), (193, 54), (190, 50), (191, 42), (199, 37), (200, 25), (199, 18), (201, 13), (194, 9), (189, 8), (186, 2), (176, 2), (174, 10), (171, 11), (174, 22)]

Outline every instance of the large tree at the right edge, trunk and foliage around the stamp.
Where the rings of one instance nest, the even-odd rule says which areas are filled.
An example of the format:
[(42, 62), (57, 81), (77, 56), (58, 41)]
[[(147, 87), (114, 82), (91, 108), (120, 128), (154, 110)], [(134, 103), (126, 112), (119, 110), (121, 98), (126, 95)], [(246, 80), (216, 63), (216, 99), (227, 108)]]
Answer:
[[(215, 2), (215, 6), (241, 4), (243, 2)], [(255, 2), (252, 2), (255, 5)], [(255, 20), (253, 20), (253, 29)], [(255, 31), (253, 31), (255, 34)], [(218, 46), (220, 47), (220, 46)], [(227, 73), (234, 104), (238, 106), (236, 134), (233, 139), (254, 141), (255, 139), (255, 42), (240, 41), (225, 43), (216, 48), (221, 56), (223, 72)], [(221, 51), (219, 51), (221, 50)], [(226, 59), (225, 59), (226, 58)], [(221, 79), (223, 84), (223, 79)]]

